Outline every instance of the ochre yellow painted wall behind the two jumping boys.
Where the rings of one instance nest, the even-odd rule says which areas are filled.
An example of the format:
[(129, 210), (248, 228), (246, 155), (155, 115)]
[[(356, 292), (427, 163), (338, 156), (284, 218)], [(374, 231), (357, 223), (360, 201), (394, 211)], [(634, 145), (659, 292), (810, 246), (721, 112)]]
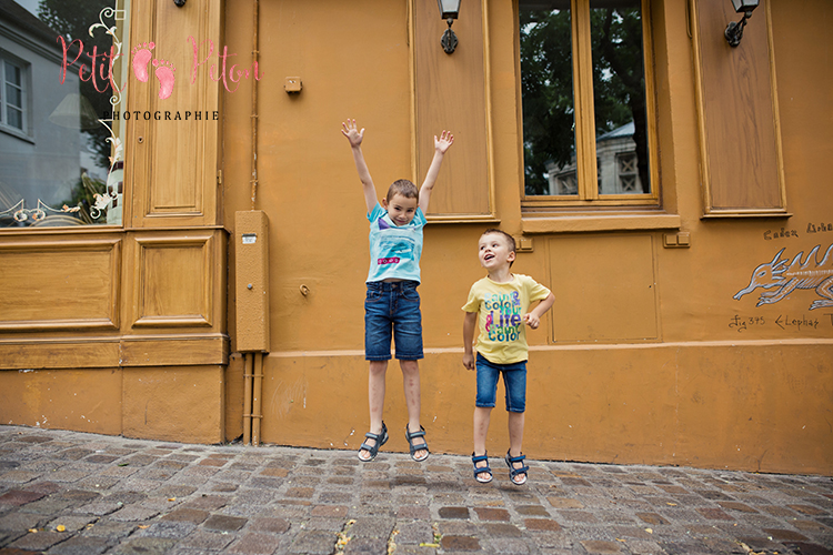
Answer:
[[(821, 1), (804, 4), (809, 11), (831, 12)], [(532, 225), (519, 194), (514, 18), (509, 1), (486, 6), (495, 213), (501, 229), (521, 236)], [(773, 0), (771, 9), (792, 218), (701, 220), (686, 8), (652, 2), (662, 206), (679, 214), (679, 229), (590, 224), (585, 233), (538, 230), (525, 235), (534, 251), (519, 254), (514, 270), (548, 283), (556, 295), (545, 329), (530, 333), (524, 445), (530, 456), (833, 473), (833, 433), (820, 424), (833, 412), (833, 321), (825, 311), (807, 311), (817, 299), (812, 290), (764, 307), (754, 306), (762, 290), (732, 299), (782, 246), (792, 258), (833, 243), (833, 232), (764, 239), (767, 230), (803, 232), (807, 222), (833, 220), (833, 200), (820, 186), (830, 162), (809, 158), (833, 145), (830, 127), (811, 123), (819, 105), (831, 104), (833, 83), (831, 72), (819, 67), (823, 60), (811, 62), (802, 53), (825, 37), (823, 18), (807, 22), (784, 1)], [(339, 131), (345, 118), (365, 128), (363, 151), (380, 196), (394, 179), (413, 175), (408, 14), (407, 2), (375, 2), (372, 10), (337, 1), (261, 4), (264, 78), (258, 90), (253, 208), (270, 221), (272, 352), (264, 362), (262, 393), (262, 441), (268, 443), (355, 450), (367, 432), (362, 302), (368, 231), (360, 184)], [(763, 23), (763, 10), (756, 16), (750, 24)], [(227, 41), (233, 50), (249, 48), (250, 20), (239, 7), (227, 9)], [(303, 24), (311, 20), (314, 26)], [(351, 30), (350, 40), (343, 29)], [(465, 37), (461, 44), (480, 47), (466, 44)], [(301, 93), (282, 90), (290, 75), (301, 78)], [(250, 84), (225, 95), (225, 137), (233, 138), (225, 144), (225, 206), (232, 211), (252, 208)], [(458, 135), (446, 158), (463, 157), (465, 149), (466, 137)], [(436, 186), (453, 189), (454, 182), (441, 173)], [(474, 245), (485, 226), (432, 223), (425, 231), (422, 418), (432, 448), (442, 452), (471, 451), (474, 383), (460, 363), (460, 306), (482, 276)], [(679, 231), (691, 233), (691, 248), (663, 248), (663, 235)], [(564, 265), (568, 253), (580, 273)], [(619, 283), (621, 275), (635, 278)], [(643, 281), (650, 292), (636, 291)], [(301, 285), (310, 289), (308, 296)], [(231, 296), (229, 306), (233, 313)], [(737, 331), (729, 325), (735, 315), (763, 317), (766, 324)], [(775, 320), (787, 315), (817, 317), (820, 324), (782, 330)], [(583, 330), (586, 339), (563, 340), (573, 329)], [(592, 339), (594, 332), (602, 339)], [(233, 330), (231, 335), (234, 351)], [(385, 448), (405, 451), (400, 375), (392, 363), (385, 422), (393, 433)], [(501, 452), (506, 441), (505, 416), (498, 410), (490, 451)]]

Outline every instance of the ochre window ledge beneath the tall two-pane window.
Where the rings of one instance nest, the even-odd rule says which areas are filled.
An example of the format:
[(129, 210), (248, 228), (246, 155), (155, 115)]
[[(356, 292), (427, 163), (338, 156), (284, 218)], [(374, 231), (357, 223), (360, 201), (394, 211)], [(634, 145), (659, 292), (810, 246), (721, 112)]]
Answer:
[(570, 214), (525, 216), (521, 220), (523, 233), (583, 233), (592, 231), (679, 230), (679, 214), (620, 213)]

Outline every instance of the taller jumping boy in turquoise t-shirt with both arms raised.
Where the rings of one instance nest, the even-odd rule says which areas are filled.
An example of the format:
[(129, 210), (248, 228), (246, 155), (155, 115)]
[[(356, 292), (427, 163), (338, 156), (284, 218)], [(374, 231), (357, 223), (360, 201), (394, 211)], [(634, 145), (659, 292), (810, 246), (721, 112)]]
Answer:
[(420, 284), (422, 228), (426, 223), (425, 212), (443, 155), (454, 142), (454, 135), (448, 131), (443, 131), (440, 139), (434, 135), (434, 158), (421, 189), (418, 190), (408, 180), (394, 181), (380, 204), (361, 150), (364, 129), (358, 131), (355, 120), (347, 120), (341, 127), (341, 132), (353, 151), (370, 220), (370, 272), (364, 301), (364, 357), (370, 361), (370, 432), (365, 434), (367, 441), (359, 450), (359, 458), (362, 462), (373, 461), (379, 447), (388, 441), (388, 426), (384, 425), (382, 414), (392, 335), (397, 345), (397, 359), (402, 369), (408, 405), (405, 438), (411, 457), (422, 462), (429, 455), (425, 428), (420, 425), (418, 362), (423, 357), (422, 315), (420, 295), (416, 292)]

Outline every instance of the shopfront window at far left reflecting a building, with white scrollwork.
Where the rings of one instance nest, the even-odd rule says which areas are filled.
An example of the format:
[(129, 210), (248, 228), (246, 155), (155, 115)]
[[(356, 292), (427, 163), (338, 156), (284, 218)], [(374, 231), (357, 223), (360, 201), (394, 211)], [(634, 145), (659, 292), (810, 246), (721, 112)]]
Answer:
[[(3, 20), (0, 68), (0, 229), (121, 224), (130, 44), (126, 0), (29, 2)], [(62, 71), (67, 60), (77, 62)], [(79, 42), (83, 52), (77, 58)], [(97, 49), (97, 83), (89, 79)], [(119, 56), (112, 77), (102, 52)], [(86, 65), (83, 81), (79, 75)], [(103, 71), (102, 71), (103, 68)], [(66, 75), (61, 82), (62, 75)], [(111, 99), (114, 105), (111, 105)]]

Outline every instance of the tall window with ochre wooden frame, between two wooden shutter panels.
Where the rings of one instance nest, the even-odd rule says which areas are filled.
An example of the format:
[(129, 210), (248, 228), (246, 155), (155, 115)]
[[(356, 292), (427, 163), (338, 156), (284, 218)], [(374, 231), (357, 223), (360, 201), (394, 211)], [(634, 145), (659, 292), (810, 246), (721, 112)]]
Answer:
[(520, 0), (524, 198), (655, 203), (642, 0)]

